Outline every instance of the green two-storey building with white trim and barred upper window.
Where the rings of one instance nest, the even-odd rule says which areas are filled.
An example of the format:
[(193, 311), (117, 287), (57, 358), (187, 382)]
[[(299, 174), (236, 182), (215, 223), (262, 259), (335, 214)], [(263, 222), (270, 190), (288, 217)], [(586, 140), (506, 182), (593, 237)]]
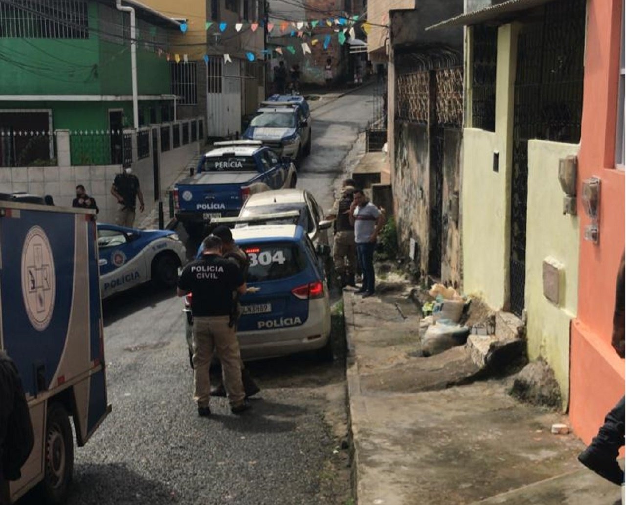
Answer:
[[(172, 121), (171, 75), (180, 72), (172, 73), (166, 54), (180, 24), (133, 0), (121, 5), (136, 14), (139, 125)], [(19, 164), (18, 151), (35, 143), (17, 133), (55, 130), (90, 132), (90, 145), (104, 153), (102, 160), (74, 153), (77, 138), (73, 158), (116, 163), (119, 132), (132, 126), (130, 13), (115, 0), (0, 3), (0, 165)], [(53, 141), (37, 142), (27, 161), (53, 161)]]

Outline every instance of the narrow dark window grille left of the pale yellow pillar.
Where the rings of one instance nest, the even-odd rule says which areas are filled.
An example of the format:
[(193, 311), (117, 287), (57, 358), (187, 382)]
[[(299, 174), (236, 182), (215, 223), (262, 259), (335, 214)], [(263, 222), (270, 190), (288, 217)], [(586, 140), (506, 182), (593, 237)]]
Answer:
[(471, 117), (474, 128), (496, 131), (498, 28), (473, 26)]

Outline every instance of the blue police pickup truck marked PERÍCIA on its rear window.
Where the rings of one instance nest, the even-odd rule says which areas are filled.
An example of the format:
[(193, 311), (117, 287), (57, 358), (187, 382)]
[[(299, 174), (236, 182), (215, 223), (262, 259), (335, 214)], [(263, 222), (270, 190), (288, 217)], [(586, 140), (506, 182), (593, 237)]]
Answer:
[(174, 186), (178, 222), (197, 235), (212, 219), (235, 217), (253, 193), (294, 188), (297, 172), (260, 141), (215, 143), (202, 156), (195, 173)]

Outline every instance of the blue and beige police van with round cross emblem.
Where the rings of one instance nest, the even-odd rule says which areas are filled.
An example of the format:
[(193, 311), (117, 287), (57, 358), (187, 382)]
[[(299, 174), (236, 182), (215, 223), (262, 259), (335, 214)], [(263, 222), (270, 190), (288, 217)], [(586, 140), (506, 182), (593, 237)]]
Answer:
[(110, 412), (95, 211), (0, 198), (0, 298), (0, 345), (35, 435), (11, 502), (39, 486), (44, 501), (62, 503), (74, 439), (85, 445)]

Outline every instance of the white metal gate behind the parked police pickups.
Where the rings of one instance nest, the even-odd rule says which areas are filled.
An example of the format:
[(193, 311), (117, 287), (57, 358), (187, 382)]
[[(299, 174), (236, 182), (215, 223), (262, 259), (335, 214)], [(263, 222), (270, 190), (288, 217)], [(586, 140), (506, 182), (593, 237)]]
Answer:
[(241, 131), (241, 61), (224, 63), (212, 56), (207, 63), (207, 136), (223, 137)]

